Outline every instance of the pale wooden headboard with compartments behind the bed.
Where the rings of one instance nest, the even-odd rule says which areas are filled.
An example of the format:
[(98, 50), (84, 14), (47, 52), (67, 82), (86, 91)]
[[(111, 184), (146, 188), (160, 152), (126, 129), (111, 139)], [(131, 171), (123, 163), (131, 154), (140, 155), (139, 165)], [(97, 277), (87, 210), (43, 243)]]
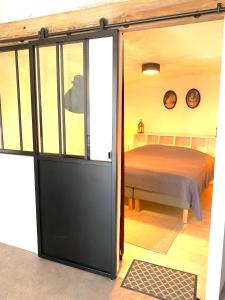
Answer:
[(214, 156), (216, 137), (161, 133), (143, 133), (134, 135), (134, 148), (148, 144), (192, 148)]

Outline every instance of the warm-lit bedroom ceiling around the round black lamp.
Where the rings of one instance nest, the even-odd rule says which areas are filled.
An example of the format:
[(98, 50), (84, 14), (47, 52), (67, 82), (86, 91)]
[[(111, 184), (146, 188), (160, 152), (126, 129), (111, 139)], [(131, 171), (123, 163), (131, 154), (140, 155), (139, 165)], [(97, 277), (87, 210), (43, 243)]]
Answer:
[(142, 80), (145, 62), (160, 63), (155, 78), (220, 72), (222, 37), (221, 20), (124, 33), (125, 81)]

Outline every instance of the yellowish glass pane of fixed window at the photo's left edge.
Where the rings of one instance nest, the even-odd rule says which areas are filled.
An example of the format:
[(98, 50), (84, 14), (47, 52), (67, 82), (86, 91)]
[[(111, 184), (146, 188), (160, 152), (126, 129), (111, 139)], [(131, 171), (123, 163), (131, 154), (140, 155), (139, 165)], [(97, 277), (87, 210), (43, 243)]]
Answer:
[(4, 148), (20, 150), (15, 52), (0, 53), (0, 98)]

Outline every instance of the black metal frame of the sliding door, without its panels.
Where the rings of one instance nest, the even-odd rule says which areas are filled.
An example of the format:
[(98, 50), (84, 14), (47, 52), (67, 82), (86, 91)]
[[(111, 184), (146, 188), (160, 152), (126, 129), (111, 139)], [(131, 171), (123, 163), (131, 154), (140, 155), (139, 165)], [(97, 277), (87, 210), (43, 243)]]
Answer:
[[(86, 55), (87, 55), (87, 41), (93, 38), (101, 37), (113, 37), (113, 106), (112, 106), (112, 115), (113, 115), (113, 124), (112, 124), (112, 174), (111, 174), (111, 191), (112, 191), (112, 203), (111, 203), (111, 215), (109, 218), (112, 220), (112, 247), (111, 247), (111, 272), (106, 273), (101, 270), (89, 268), (88, 266), (82, 264), (76, 264), (74, 262), (68, 261), (66, 259), (57, 258), (54, 256), (49, 256), (43, 253), (42, 247), (42, 228), (41, 228), (41, 210), (40, 210), (40, 170), (39, 170), (39, 158), (42, 157), (46, 160), (59, 160), (59, 161), (76, 161), (80, 160), (79, 157), (70, 157), (68, 155), (59, 154), (59, 155), (50, 155), (50, 154), (41, 154), (39, 152), (39, 142), (38, 142), (38, 108), (37, 108), (37, 90), (36, 90), (36, 76), (37, 70), (35, 67), (35, 47), (36, 46), (47, 46), (47, 45), (56, 45), (59, 43), (72, 43), (78, 41), (85, 41), (86, 45)], [(74, 36), (66, 36), (63, 38), (53, 38), (53, 39), (41, 39), (39, 41), (30, 42), (30, 81), (31, 81), (31, 99), (32, 99), (32, 125), (33, 125), (33, 146), (34, 146), (34, 169), (35, 169), (35, 191), (36, 191), (36, 214), (37, 214), (37, 235), (38, 235), (38, 255), (42, 258), (47, 258), (56, 262), (60, 262), (69, 266), (77, 267), (83, 270), (91, 271), (100, 275), (104, 275), (114, 279), (117, 273), (117, 126), (120, 120), (117, 119), (117, 110), (118, 106), (118, 36), (119, 31), (117, 30), (101, 30), (92, 33), (86, 34), (77, 34)], [(88, 62), (85, 65), (86, 68), (86, 84), (88, 84)], [(88, 94), (87, 94), (88, 102)], [(88, 121), (87, 121), (88, 123)], [(86, 124), (86, 133), (87, 136), (87, 126)], [(89, 160), (88, 148), (86, 147), (86, 155), (83, 158), (85, 161)], [(105, 164), (103, 162), (95, 161), (95, 164)], [(108, 163), (106, 163), (108, 164)]]

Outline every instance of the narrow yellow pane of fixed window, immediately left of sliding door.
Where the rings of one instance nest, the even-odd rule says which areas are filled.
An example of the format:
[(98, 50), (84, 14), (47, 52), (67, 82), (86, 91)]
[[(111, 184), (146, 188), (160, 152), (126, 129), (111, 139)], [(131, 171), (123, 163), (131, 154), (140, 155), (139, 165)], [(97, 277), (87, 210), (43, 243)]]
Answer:
[(23, 150), (33, 151), (29, 51), (18, 51)]

